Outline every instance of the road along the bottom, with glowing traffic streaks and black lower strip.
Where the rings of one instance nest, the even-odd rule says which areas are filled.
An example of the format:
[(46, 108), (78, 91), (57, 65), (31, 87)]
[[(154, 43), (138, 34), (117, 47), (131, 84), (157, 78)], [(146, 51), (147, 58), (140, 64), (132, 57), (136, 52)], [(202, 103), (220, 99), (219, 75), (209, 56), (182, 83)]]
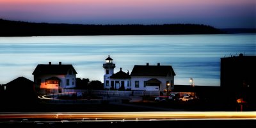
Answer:
[(255, 128), (256, 112), (0, 113), (0, 127)]

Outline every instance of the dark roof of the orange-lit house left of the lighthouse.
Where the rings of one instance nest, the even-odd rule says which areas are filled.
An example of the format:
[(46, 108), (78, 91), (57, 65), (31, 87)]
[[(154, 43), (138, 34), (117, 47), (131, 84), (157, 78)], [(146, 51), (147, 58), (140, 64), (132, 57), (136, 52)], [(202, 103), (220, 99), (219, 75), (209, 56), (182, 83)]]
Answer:
[(54, 74), (54, 75), (63, 75), (68, 74), (68, 71), (72, 70), (74, 74), (77, 74), (75, 68), (72, 65), (37, 65), (33, 75), (45, 75), (45, 74)]

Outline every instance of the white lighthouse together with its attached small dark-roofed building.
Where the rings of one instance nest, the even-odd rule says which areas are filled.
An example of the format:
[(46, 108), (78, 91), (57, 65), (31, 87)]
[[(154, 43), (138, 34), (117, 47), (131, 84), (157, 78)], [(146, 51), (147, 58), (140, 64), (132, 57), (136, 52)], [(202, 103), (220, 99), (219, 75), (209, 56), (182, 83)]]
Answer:
[(129, 72), (125, 73), (120, 68), (119, 72), (114, 74), (115, 63), (113, 59), (108, 56), (106, 63), (103, 64), (104, 68), (104, 88), (111, 90), (127, 90), (131, 89), (131, 76)]

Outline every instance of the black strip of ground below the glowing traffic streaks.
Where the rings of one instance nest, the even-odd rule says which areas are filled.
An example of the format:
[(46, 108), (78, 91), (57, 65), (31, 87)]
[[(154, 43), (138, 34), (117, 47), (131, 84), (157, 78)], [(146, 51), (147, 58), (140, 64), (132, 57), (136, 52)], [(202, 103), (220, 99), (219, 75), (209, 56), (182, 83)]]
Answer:
[(255, 120), (172, 120), (172, 121), (132, 121), (132, 122), (10, 122), (1, 123), (1, 128), (14, 127), (196, 127), (196, 128), (255, 128)]

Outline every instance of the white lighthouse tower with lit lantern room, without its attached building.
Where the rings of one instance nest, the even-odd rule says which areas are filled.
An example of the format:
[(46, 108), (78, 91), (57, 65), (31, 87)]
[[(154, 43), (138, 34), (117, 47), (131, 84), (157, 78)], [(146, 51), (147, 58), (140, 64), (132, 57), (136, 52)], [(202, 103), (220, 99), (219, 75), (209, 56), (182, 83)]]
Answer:
[(111, 88), (110, 84), (110, 76), (114, 74), (114, 68), (116, 67), (115, 63), (113, 63), (113, 59), (109, 57), (106, 58), (106, 63), (103, 64), (103, 68), (105, 69), (104, 73), (104, 88)]

